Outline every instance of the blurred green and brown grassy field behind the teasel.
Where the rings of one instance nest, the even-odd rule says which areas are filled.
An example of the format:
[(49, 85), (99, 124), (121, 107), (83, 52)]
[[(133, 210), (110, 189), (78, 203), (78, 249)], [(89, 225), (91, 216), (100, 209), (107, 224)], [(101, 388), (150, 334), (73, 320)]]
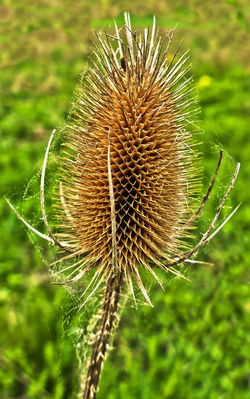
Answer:
[[(241, 168), (220, 221), (242, 205), (198, 253), (198, 260), (213, 265), (190, 267), (192, 282), (162, 275), (163, 292), (144, 276), (154, 308), (137, 310), (127, 299), (97, 399), (250, 398), (248, 0), (1, 3), (0, 397), (66, 399), (77, 392), (75, 347), (94, 304), (77, 313), (77, 292), (50, 284), (47, 263), (56, 259), (54, 250), (27, 233), (3, 196), (45, 233), (39, 172), (48, 138), (71, 108), (90, 54), (90, 28), (113, 32), (113, 17), (121, 26), (124, 10), (135, 28), (152, 26), (153, 14), (162, 30), (178, 22), (173, 49), (181, 38), (181, 53), (190, 49), (201, 107), (197, 123), (205, 132), (203, 193), (219, 149), (225, 149), (194, 242), (230, 182), (232, 158)], [(46, 204), (50, 209), (48, 197)]]

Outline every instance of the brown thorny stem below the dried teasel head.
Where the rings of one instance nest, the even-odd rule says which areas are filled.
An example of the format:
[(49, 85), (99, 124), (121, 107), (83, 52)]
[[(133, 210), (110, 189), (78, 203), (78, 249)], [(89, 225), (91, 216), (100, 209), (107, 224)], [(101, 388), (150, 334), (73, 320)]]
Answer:
[(91, 343), (93, 349), (85, 378), (82, 399), (95, 399), (107, 345), (115, 318), (117, 318), (117, 306), (122, 285), (123, 273), (120, 276), (112, 273), (107, 278), (98, 331)]

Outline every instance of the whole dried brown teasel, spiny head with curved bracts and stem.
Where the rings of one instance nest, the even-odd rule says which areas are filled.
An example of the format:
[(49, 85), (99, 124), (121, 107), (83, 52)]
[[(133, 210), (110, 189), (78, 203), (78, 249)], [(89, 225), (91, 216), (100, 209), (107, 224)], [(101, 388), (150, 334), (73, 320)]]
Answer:
[(159, 30), (155, 33), (155, 20), (150, 38), (149, 29), (137, 38), (126, 13), (125, 40), (115, 28), (115, 37), (96, 34), (96, 60), (90, 58), (91, 67), (83, 75), (63, 140), (58, 185), (62, 241), (52, 233), (44, 207), (44, 175), (55, 130), (41, 180), (42, 213), (49, 236), (31, 227), (15, 211), (30, 229), (67, 251), (65, 259), (75, 259), (67, 280), (56, 284), (74, 282), (94, 269), (88, 288), (95, 286), (85, 304), (105, 282), (83, 399), (95, 398), (123, 285), (130, 286), (135, 299), (134, 280), (151, 304), (141, 268), (159, 282), (156, 267), (186, 278), (174, 266), (196, 262), (189, 259), (191, 255), (226, 222), (210, 235), (240, 167), (238, 164), (202, 239), (182, 252), (185, 246), (187, 249), (182, 239), (190, 236), (194, 219), (209, 198), (222, 152), (208, 192), (195, 211), (200, 170), (198, 154), (192, 148), (196, 144), (192, 120), (197, 110), (192, 77), (186, 77), (188, 57), (178, 58), (179, 46), (169, 60), (175, 30), (160, 38)]

